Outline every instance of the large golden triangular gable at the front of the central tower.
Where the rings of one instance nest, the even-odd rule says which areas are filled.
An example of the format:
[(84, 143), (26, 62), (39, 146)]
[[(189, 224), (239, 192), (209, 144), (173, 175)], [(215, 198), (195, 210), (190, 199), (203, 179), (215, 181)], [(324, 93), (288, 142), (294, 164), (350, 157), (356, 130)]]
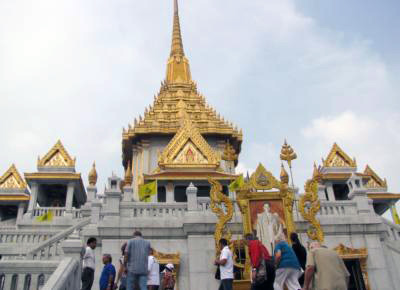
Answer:
[(165, 167), (211, 167), (219, 166), (219, 156), (201, 136), (188, 115), (183, 116), (183, 124), (174, 138), (161, 153), (158, 160)]

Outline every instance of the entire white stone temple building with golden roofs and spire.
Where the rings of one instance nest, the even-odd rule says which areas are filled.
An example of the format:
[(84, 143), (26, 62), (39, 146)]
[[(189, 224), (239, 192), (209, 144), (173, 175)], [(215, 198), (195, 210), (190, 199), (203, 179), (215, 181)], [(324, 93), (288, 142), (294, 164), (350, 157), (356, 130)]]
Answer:
[[(304, 244), (320, 241), (339, 253), (351, 273), (349, 289), (396, 289), (400, 194), (390, 192), (373, 167), (360, 171), (336, 143), (314, 164), (304, 190), (292, 185), (288, 171), (297, 154), (286, 141), (278, 177), (262, 164), (246, 178), (237, 173), (242, 130), (199, 93), (173, 3), (165, 80), (143, 116), (122, 133), (124, 176), (112, 174), (100, 191), (101, 168), (84, 169), (84, 182), (75, 158), (57, 141), (38, 158), (35, 172), (21, 175), (12, 165), (0, 178), (0, 290), (80, 289), (89, 237), (98, 241), (98, 281), (102, 254), (118, 261), (134, 230), (151, 242), (162, 269), (175, 265), (177, 290), (218, 288), (213, 262), (222, 237), (234, 253), (234, 289), (250, 289), (244, 235), (254, 233), (273, 249), (274, 238), (295, 231)], [(155, 190), (144, 199), (150, 184)], [(382, 216), (388, 210), (394, 222)], [(263, 227), (269, 235), (261, 234)]]

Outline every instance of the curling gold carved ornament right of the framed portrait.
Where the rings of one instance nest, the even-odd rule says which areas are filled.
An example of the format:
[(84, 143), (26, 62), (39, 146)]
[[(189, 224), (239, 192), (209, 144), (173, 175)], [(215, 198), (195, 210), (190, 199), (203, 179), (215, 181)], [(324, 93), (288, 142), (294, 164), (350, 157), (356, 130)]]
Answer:
[(299, 211), (302, 217), (310, 223), (307, 229), (308, 237), (311, 240), (322, 243), (324, 241), (324, 232), (316, 218), (316, 214), (321, 208), (321, 203), (318, 199), (318, 177), (307, 180), (304, 189), (305, 194), (300, 197), (299, 201)]

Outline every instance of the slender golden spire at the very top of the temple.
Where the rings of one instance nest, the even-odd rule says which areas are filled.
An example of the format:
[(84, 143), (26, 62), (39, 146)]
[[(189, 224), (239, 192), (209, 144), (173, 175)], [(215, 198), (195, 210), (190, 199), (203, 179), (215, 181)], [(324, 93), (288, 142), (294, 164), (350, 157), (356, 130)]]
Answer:
[(172, 28), (171, 53), (167, 65), (168, 83), (190, 83), (189, 61), (183, 51), (181, 26), (179, 22), (178, 0), (174, 0), (174, 21)]

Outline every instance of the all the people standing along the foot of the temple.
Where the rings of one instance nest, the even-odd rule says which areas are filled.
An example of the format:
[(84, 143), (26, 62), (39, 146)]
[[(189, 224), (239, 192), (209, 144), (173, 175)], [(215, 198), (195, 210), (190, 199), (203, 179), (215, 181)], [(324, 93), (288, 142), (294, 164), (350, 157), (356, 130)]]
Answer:
[[(273, 253), (253, 234), (245, 236), (251, 262), (251, 290), (346, 290), (350, 274), (339, 255), (318, 242), (309, 244), (309, 250), (301, 244), (296, 233), (291, 233), (291, 246), (284, 234), (275, 241)], [(97, 241), (89, 238), (83, 253), (82, 290), (90, 290), (94, 281)], [(216, 278), (219, 290), (232, 290), (234, 280), (233, 253), (228, 241), (219, 241), (220, 255), (214, 264), (218, 266)], [(103, 270), (99, 279), (100, 290), (173, 290), (175, 288), (174, 265), (167, 264), (160, 272), (160, 264), (154, 257), (150, 242), (135, 231), (133, 238), (121, 247), (118, 272), (110, 254), (103, 255)]]

